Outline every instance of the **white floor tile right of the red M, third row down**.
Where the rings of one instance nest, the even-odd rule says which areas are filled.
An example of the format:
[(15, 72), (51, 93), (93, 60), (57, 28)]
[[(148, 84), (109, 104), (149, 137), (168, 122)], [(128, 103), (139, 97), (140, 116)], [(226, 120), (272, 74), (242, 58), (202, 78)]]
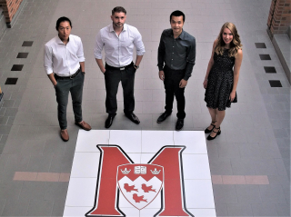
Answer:
[(187, 209), (215, 209), (211, 180), (184, 180)]

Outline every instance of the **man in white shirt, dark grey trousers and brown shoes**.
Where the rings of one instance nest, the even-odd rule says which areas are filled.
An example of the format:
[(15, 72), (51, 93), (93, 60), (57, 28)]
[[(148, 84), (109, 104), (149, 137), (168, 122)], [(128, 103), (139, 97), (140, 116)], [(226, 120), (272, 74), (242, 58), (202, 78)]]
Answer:
[(58, 32), (45, 44), (45, 72), (55, 86), (57, 116), (63, 141), (69, 140), (66, 127), (66, 105), (69, 92), (73, 100), (75, 124), (89, 131), (91, 126), (82, 118), (82, 94), (85, 76), (85, 57), (81, 38), (70, 35), (71, 21), (63, 16), (56, 21)]

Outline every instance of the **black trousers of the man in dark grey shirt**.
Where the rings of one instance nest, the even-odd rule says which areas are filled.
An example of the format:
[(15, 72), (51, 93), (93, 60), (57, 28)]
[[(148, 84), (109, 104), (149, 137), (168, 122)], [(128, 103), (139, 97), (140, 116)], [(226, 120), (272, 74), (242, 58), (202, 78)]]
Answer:
[(185, 70), (173, 70), (165, 65), (164, 74), (164, 86), (166, 89), (166, 113), (172, 113), (174, 96), (176, 96), (178, 110), (176, 116), (179, 119), (185, 119), (185, 88), (179, 87), (180, 81), (184, 78)]

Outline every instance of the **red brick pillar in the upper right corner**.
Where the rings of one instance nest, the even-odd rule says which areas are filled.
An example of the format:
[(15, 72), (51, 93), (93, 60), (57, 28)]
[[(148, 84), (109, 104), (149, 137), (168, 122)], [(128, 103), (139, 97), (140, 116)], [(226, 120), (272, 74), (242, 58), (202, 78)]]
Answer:
[(272, 0), (267, 26), (272, 35), (286, 34), (291, 25), (291, 0)]

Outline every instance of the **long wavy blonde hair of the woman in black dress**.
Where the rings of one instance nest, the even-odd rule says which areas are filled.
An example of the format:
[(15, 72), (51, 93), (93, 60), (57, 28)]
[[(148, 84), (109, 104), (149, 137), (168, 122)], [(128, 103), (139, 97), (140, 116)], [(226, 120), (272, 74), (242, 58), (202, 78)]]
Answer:
[(225, 28), (229, 29), (230, 32), (234, 36), (233, 40), (231, 41), (230, 46), (229, 46), (228, 56), (229, 57), (231, 57), (231, 56), (236, 57), (238, 49), (242, 49), (243, 45), (241, 44), (239, 35), (237, 34), (236, 25), (234, 25), (233, 23), (230, 23), (230, 22), (226, 22), (226, 24), (222, 25), (222, 27), (220, 29), (220, 33), (217, 37), (218, 42), (216, 45), (215, 52), (216, 52), (216, 54), (221, 54), (221, 55), (224, 54), (226, 43), (224, 42), (222, 35), (224, 34)]

